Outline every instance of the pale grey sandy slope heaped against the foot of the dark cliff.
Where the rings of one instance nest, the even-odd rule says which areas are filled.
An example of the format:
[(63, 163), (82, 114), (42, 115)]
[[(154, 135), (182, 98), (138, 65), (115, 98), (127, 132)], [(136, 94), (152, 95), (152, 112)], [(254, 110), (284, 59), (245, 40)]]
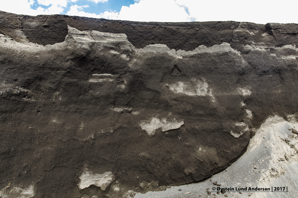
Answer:
[[(297, 128), (298, 124), (291, 115), (288, 121), (271, 116), (255, 130), (247, 152), (226, 170), (198, 183), (173, 186), (166, 191), (137, 193), (134, 198), (298, 197)], [(288, 189), (288, 192), (249, 191), (249, 188), (256, 187), (273, 187), (273, 190), (274, 187), (285, 187), (283, 191)], [(228, 188), (237, 188), (237, 191), (221, 190)], [(247, 191), (238, 190), (241, 188)]]

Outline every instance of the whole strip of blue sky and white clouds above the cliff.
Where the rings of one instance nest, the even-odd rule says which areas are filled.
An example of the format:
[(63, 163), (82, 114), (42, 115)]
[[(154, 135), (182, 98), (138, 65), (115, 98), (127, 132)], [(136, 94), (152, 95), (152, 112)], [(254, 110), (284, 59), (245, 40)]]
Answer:
[(10, 0), (1, 11), (23, 15), (65, 14), (113, 20), (298, 23), (297, 0)]

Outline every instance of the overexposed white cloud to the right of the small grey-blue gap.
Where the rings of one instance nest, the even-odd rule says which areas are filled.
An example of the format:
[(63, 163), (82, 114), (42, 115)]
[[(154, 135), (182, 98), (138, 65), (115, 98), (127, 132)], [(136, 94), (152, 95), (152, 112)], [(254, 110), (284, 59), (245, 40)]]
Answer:
[[(180, 6), (188, 8), (189, 16), (196, 21), (238, 21), (253, 23), (298, 23), (297, 13), (291, 7), (297, 7), (298, 1), (291, 3), (268, 3), (267, 1), (194, 1), (175, 0)], [(279, 10), (278, 14), (275, 13)]]

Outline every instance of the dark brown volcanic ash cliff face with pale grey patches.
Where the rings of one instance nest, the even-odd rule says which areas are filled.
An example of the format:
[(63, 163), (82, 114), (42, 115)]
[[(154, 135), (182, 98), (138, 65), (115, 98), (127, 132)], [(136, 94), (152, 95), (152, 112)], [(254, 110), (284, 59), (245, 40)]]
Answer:
[(0, 196), (203, 180), (269, 115), (297, 113), (297, 57), (297, 24), (0, 12)]

